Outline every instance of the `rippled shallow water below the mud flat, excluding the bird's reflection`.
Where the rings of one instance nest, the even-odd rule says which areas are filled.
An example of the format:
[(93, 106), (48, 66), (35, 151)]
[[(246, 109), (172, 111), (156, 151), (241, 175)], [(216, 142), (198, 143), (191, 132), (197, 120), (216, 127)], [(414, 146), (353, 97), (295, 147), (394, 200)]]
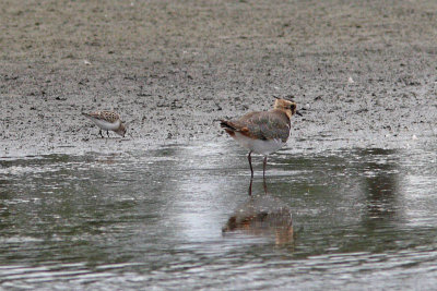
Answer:
[[(3, 289), (427, 289), (437, 286), (437, 148), (284, 149), (269, 195), (294, 235), (222, 228), (248, 198), (232, 142), (3, 157)], [(253, 194), (262, 158), (253, 157)]]

